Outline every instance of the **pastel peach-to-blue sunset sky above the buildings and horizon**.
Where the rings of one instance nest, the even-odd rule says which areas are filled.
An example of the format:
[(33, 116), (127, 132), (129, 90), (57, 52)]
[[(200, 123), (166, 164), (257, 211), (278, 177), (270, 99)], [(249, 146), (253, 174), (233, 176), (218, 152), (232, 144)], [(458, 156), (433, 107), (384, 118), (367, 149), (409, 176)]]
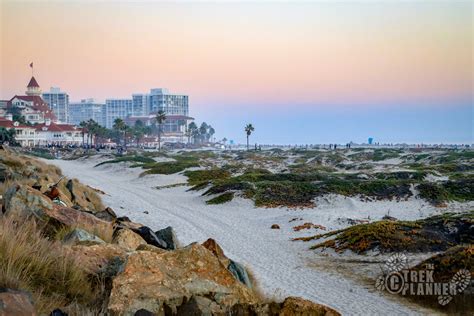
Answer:
[(1, 3), (0, 98), (166, 87), (218, 137), (473, 139), (471, 1)]

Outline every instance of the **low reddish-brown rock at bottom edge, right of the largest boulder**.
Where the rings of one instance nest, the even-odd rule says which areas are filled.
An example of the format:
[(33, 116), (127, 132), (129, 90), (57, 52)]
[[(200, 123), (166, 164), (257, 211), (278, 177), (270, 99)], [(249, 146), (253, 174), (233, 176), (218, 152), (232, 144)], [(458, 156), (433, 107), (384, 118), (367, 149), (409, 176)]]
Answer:
[(283, 302), (280, 316), (337, 316), (341, 315), (332, 308), (316, 304), (300, 297), (287, 297)]

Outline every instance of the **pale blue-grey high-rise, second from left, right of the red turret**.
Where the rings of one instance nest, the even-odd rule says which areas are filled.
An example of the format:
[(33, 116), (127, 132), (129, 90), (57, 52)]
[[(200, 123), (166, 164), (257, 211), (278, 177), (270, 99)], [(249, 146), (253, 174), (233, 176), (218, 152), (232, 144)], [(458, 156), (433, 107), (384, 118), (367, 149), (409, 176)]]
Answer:
[(96, 102), (94, 99), (83, 99), (81, 102), (69, 104), (69, 122), (79, 125), (90, 119), (101, 126), (106, 126), (105, 103)]

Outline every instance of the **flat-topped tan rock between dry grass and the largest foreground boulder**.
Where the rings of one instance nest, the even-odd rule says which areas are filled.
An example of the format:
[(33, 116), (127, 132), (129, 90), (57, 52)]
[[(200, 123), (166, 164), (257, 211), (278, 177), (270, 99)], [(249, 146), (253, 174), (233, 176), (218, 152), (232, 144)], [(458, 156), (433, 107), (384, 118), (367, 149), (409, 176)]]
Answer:
[(125, 250), (113, 244), (98, 245), (73, 245), (65, 246), (73, 253), (81, 266), (90, 273), (98, 274), (106, 270), (110, 263), (114, 263), (115, 258), (124, 261), (127, 257)]

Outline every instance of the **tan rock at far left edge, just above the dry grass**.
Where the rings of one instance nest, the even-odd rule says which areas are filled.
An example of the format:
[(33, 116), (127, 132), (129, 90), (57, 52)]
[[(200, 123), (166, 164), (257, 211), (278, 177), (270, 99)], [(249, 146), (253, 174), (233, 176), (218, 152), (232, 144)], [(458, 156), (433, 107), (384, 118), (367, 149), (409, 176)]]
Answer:
[(27, 186), (9, 187), (3, 197), (5, 214), (21, 218), (34, 216), (40, 220), (48, 218), (46, 210), (52, 210), (53, 202), (41, 192)]

